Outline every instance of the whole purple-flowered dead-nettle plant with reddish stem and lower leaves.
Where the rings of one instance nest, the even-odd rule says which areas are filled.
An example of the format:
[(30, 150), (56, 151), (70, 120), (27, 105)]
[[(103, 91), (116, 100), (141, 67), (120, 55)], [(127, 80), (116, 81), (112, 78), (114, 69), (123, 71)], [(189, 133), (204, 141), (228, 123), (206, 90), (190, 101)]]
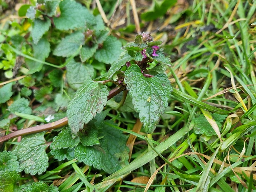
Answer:
[[(150, 33), (137, 35), (133, 43), (122, 48), (124, 51), (120, 58), (111, 64), (101, 81), (93, 81), (87, 75), (68, 104), (67, 118), (0, 138), (1, 142), (19, 135), (37, 133), (24, 137), (14, 150), (20, 161), (19, 170), (31, 175), (46, 171), (48, 156), (43, 131), (65, 126), (67, 122), (68, 126), (62, 128), (50, 144), (50, 153), (55, 159), (77, 159), (107, 173), (114, 173), (125, 166), (128, 163), (126, 137), (114, 128), (116, 124), (113, 121), (104, 120), (109, 109), (103, 109), (108, 100), (123, 92), (120, 109), (122, 104), (126, 104), (126, 98), (130, 98), (145, 132), (154, 131), (173, 90), (164, 74), (164, 66), (171, 66), (171, 62), (159, 48), (160, 44), (161, 41), (152, 40)], [(109, 91), (106, 85), (108, 82), (116, 84), (116, 88)], [(32, 145), (31, 140), (38, 142)], [(36, 152), (31, 153), (35, 147)], [(40, 158), (35, 158), (38, 156)]]

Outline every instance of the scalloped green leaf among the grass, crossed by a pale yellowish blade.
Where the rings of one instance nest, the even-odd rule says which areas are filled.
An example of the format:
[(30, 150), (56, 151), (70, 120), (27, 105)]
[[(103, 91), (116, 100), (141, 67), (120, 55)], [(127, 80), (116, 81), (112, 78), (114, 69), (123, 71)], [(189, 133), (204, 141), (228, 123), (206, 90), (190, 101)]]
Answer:
[[(221, 122), (227, 117), (226, 115), (219, 115), (219, 114), (212, 114), (212, 116), (219, 128), (221, 128), (222, 126)], [(193, 127), (194, 133), (197, 135), (205, 134), (206, 136), (209, 136), (209, 137), (212, 135), (217, 135), (203, 114), (193, 119), (192, 123), (194, 124), (194, 127)]]

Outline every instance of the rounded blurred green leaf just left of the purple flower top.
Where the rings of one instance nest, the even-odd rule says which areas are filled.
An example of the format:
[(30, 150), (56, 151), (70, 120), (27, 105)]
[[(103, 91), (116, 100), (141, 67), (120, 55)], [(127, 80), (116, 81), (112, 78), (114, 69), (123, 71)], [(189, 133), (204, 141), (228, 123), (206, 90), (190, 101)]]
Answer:
[(94, 57), (99, 62), (104, 62), (106, 64), (111, 64), (119, 59), (122, 52), (122, 43), (113, 36), (108, 36), (103, 42), (103, 47), (98, 49)]

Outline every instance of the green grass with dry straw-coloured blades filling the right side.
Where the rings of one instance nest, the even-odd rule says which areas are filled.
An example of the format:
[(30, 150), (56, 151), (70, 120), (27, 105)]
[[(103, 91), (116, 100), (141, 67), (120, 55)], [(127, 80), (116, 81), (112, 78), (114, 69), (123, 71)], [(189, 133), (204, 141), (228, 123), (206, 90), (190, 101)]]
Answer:
[[(119, 125), (115, 128), (134, 137), (128, 140), (130, 164), (107, 175), (76, 160), (56, 167), (51, 159), (38, 180), (63, 179), (60, 192), (256, 192), (255, 13), (256, 1), (194, 0), (178, 21), (168, 24), (176, 27), (175, 36), (152, 31), (172, 58), (166, 73), (175, 88), (155, 133), (140, 132), (141, 125), (129, 114), (109, 114)], [(214, 114), (225, 118), (217, 121)], [(205, 129), (195, 121), (199, 115), (215, 134), (194, 133), (198, 126)]]

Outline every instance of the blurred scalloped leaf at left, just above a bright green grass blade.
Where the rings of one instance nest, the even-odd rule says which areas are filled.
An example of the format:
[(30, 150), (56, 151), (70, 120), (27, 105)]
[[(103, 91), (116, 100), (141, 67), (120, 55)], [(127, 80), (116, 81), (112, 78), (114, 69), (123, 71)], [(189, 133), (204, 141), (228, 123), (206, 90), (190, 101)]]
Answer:
[(31, 114), (32, 109), (29, 107), (29, 101), (25, 99), (24, 97), (21, 97), (20, 99), (14, 101), (10, 106), (9, 110), (12, 113), (19, 112), (24, 114)]

